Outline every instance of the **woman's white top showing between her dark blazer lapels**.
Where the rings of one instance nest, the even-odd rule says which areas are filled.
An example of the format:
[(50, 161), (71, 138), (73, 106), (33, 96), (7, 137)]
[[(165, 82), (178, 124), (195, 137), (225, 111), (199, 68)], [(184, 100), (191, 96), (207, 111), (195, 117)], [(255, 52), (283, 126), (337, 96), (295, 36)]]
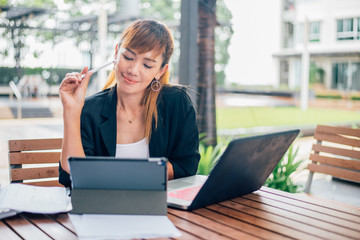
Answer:
[(129, 144), (116, 144), (116, 158), (149, 158), (149, 144), (146, 138)]

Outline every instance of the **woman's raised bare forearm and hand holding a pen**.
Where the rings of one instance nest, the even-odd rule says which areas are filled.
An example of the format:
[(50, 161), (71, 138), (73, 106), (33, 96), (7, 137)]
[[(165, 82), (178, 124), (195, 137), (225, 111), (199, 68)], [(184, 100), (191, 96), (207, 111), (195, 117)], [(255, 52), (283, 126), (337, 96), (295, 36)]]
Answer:
[[(81, 75), (85, 74), (83, 78)], [(81, 73), (66, 74), (60, 88), (60, 98), (63, 105), (64, 138), (60, 157), (61, 167), (67, 173), (70, 156), (85, 156), (80, 133), (80, 115), (85, 101), (85, 93), (92, 72), (85, 67)]]

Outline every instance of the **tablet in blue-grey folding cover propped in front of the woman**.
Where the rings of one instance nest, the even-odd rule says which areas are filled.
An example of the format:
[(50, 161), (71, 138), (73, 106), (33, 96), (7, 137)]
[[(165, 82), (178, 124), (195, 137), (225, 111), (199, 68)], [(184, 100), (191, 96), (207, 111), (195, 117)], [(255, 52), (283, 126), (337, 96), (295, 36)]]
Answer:
[(166, 158), (70, 157), (75, 214), (166, 215)]

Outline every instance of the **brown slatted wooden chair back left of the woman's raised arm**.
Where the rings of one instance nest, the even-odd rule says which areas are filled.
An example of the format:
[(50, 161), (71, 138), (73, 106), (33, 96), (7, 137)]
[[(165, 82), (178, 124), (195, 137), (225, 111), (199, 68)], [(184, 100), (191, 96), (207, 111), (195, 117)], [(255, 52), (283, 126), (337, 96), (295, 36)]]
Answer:
[(62, 186), (58, 182), (61, 145), (61, 138), (9, 140), (10, 182)]

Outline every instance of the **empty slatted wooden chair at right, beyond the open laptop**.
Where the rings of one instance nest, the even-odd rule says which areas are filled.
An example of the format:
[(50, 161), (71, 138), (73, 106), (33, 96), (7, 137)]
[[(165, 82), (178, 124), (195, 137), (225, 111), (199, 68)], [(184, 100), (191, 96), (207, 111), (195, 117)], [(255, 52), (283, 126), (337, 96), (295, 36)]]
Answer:
[(360, 182), (360, 129), (318, 125), (312, 147), (310, 170), (305, 186), (309, 193), (315, 172)]

